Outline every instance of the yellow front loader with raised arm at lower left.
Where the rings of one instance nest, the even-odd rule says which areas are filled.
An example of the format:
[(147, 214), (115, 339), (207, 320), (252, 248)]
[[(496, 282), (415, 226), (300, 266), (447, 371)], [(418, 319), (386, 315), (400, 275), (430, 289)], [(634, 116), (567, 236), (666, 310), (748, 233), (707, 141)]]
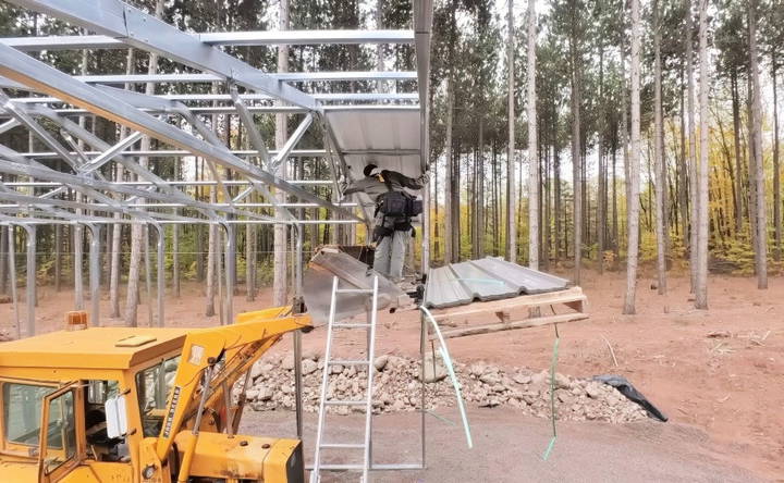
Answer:
[(247, 387), (284, 333), (309, 327), (281, 307), (210, 329), (91, 327), (0, 344), (0, 479), (302, 482), (298, 439), (236, 434), (245, 397), (232, 387), (241, 377)]

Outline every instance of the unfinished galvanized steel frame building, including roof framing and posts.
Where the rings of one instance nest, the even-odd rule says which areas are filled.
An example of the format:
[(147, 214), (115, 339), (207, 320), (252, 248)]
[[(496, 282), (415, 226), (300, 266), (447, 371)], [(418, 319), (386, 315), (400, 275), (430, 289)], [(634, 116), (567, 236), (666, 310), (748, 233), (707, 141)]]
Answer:
[[(368, 223), (367, 200), (338, 202), (323, 199), (308, 186), (331, 185), (341, 193), (341, 179), (351, 179), (369, 161), (412, 175), (427, 166), (429, 45), (431, 0), (413, 0), (413, 29), (405, 30), (279, 30), (186, 33), (121, 0), (7, 0), (17, 7), (57, 17), (95, 35), (0, 38), (0, 134), (24, 127), (47, 151), (17, 152), (0, 146), (0, 224), (27, 233), (27, 272), (35, 273), (36, 226), (69, 224), (90, 234), (89, 289), (93, 319), (99, 317), (99, 257), (101, 230), (117, 223), (144, 224), (158, 234), (158, 323), (163, 321), (163, 230), (167, 225), (208, 223), (223, 227), (225, 252), (235, 251), (236, 224), (285, 224), (297, 242), (295, 294), (302, 280), (302, 230), (308, 223)], [(222, 46), (298, 46), (320, 44), (409, 44), (414, 46), (413, 72), (262, 72), (226, 53)], [(72, 76), (29, 55), (49, 50), (123, 49), (154, 52), (189, 67), (183, 73), (155, 75)], [(308, 94), (291, 83), (371, 81), (375, 92)], [(416, 82), (413, 92), (384, 91), (382, 83)], [(220, 84), (225, 94), (147, 95), (128, 86), (152, 84)], [(35, 92), (26, 97), (9, 92)], [(331, 89), (330, 89), (331, 90)], [(280, 150), (268, 146), (255, 114), (299, 114), (303, 120)], [(252, 150), (231, 150), (208, 127), (205, 116), (236, 115)], [(130, 129), (119, 141), (106, 140), (76, 122), (99, 116)], [(61, 136), (45, 127), (54, 125)], [(311, 126), (326, 134), (322, 149), (297, 149)], [(370, 127), (368, 127), (370, 126)], [(145, 136), (172, 149), (134, 149)], [(65, 139), (66, 143), (62, 143)], [(205, 160), (210, 181), (162, 179), (140, 159), (196, 157)], [(326, 179), (285, 179), (275, 175), (281, 163), (293, 157), (320, 157), (329, 162)], [(58, 170), (52, 160), (59, 160)], [(256, 161), (256, 162), (254, 162)], [(118, 163), (137, 181), (118, 182), (100, 169)], [(352, 170), (352, 168), (354, 168)], [(221, 169), (235, 176), (226, 179)], [(9, 181), (13, 176), (13, 182)], [(223, 202), (196, 199), (188, 187), (216, 186)], [(230, 188), (241, 186), (235, 195)], [(295, 201), (277, 201), (270, 188)], [(252, 193), (264, 202), (247, 202)], [(73, 195), (73, 196), (72, 196)], [(75, 198), (75, 199), (74, 199)], [(425, 202), (428, 202), (425, 190)], [(329, 220), (305, 220), (302, 208), (322, 207)], [(274, 208), (275, 216), (260, 213)], [(184, 211), (187, 210), (187, 214)], [(422, 224), (428, 225), (425, 210)], [(428, 230), (422, 268), (429, 264)], [(13, 269), (13, 236), (9, 264)], [(295, 251), (296, 251), (295, 250)], [(220, 263), (219, 263), (220, 265)], [(79, 271), (81, 272), (81, 271)], [(226, 294), (232, 293), (234, 257), (225, 260)], [(13, 270), (11, 270), (13, 276)], [(81, 273), (76, 274), (81, 278)], [(76, 283), (81, 286), (81, 280)], [(35, 333), (35, 284), (27, 284), (26, 335)], [(12, 296), (16, 300), (15, 283)], [(231, 320), (231, 297), (223, 301), (222, 319)], [(19, 323), (17, 331), (22, 335)]]

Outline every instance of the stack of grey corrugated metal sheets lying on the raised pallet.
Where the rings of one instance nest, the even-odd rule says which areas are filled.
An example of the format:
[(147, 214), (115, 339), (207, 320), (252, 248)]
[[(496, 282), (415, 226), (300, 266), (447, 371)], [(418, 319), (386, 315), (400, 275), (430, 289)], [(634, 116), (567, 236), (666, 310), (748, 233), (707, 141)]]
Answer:
[(565, 278), (487, 257), (431, 269), (425, 287), (425, 306), (440, 309), (562, 290), (567, 285)]

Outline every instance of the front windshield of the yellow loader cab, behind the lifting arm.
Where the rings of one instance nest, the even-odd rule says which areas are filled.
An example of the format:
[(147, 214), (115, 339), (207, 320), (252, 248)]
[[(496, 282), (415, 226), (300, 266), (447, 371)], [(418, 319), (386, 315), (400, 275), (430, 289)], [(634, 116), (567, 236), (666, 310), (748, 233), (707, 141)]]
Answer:
[(145, 437), (160, 434), (169, 392), (179, 366), (180, 356), (176, 356), (136, 373), (136, 393)]

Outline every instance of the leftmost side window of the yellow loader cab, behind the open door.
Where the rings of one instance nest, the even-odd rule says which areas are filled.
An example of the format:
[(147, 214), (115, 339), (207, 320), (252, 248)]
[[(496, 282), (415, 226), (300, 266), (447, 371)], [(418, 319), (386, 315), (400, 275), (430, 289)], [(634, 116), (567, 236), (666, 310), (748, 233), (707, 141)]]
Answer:
[(54, 387), (32, 384), (3, 384), (3, 421), (5, 421), (7, 441), (38, 446), (41, 401), (54, 391)]

